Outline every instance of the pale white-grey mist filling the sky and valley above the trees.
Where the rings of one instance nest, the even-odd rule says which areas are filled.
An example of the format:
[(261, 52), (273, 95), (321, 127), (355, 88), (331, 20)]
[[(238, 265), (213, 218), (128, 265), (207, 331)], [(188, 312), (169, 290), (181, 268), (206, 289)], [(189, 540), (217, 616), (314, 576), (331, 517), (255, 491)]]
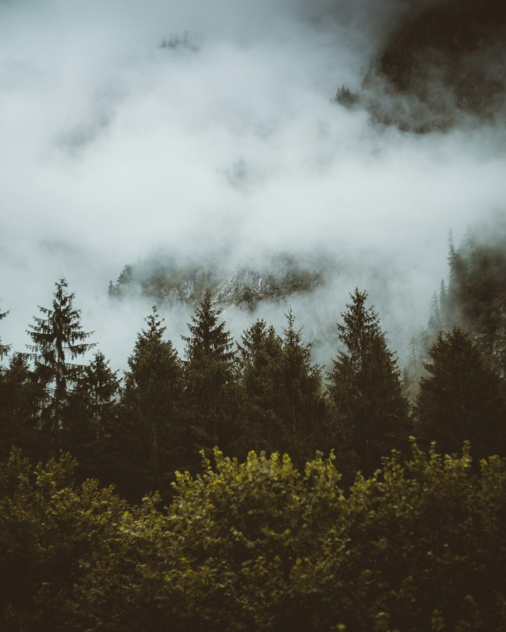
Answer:
[[(414, 136), (331, 102), (428, 3), (0, 1), (2, 342), (24, 349), (65, 276), (84, 329), (123, 367), (149, 312), (108, 302), (125, 264), (325, 251), (347, 268), (294, 301), (297, 322), (315, 306), (339, 320), (358, 285), (402, 356), (447, 274), (448, 230), (458, 242), (506, 193), (502, 131)], [(160, 47), (185, 32), (187, 47)], [(279, 326), (283, 311), (264, 314)], [(179, 348), (188, 315), (166, 314)], [(238, 335), (250, 316), (226, 319)]]

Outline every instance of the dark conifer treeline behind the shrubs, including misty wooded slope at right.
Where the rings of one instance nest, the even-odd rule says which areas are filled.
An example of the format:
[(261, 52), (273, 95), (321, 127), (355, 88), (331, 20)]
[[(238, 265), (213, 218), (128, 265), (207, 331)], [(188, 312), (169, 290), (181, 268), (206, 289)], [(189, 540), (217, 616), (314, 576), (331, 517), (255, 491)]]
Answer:
[(471, 439), (476, 457), (503, 454), (506, 258), (488, 248), (450, 244), (448, 290), (442, 284), (435, 296), (429, 327), (413, 343), (423, 360), (412, 358), (404, 381), (358, 289), (340, 315), (328, 372), (311, 363), (291, 310), (281, 332), (257, 320), (236, 342), (207, 291), (182, 336), (183, 357), (153, 307), (119, 379), (101, 351), (79, 363), (95, 343), (59, 279), (51, 308), (29, 325), (28, 352), (13, 353), (0, 372), (0, 457), (12, 446), (35, 461), (70, 451), (80, 477), (138, 501), (149, 490), (170, 497), (174, 471), (198, 471), (199, 450), (216, 445), (238, 458), (251, 449), (288, 453), (296, 466), (333, 449), (347, 484), (392, 449), (404, 453), (410, 434), (443, 452)]

